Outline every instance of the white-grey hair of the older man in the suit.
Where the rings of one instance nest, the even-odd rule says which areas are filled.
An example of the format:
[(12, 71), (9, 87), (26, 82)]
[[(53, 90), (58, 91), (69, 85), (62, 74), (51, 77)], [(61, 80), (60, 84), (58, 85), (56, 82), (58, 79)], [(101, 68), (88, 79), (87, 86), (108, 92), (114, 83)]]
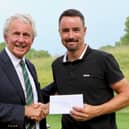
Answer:
[(8, 19), (6, 19), (5, 24), (4, 24), (4, 28), (3, 28), (4, 35), (8, 34), (8, 29), (9, 29), (11, 22), (16, 20), (16, 19), (30, 24), (32, 26), (32, 30), (33, 30), (33, 32), (32, 32), (33, 38), (36, 37), (37, 32), (36, 32), (35, 23), (30, 15), (25, 15), (25, 14), (15, 14), (15, 15), (9, 17)]

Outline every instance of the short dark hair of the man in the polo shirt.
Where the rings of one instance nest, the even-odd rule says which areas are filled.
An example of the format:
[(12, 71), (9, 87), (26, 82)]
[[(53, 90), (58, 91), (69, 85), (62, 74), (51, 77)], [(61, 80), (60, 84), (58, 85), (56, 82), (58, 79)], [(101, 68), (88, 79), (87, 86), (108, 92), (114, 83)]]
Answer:
[(65, 10), (59, 17), (59, 24), (60, 24), (60, 21), (61, 19), (64, 17), (64, 16), (69, 16), (69, 17), (80, 17), (80, 19), (82, 20), (82, 23), (83, 25), (85, 25), (85, 18), (83, 16), (83, 14), (77, 10), (77, 9), (67, 9)]

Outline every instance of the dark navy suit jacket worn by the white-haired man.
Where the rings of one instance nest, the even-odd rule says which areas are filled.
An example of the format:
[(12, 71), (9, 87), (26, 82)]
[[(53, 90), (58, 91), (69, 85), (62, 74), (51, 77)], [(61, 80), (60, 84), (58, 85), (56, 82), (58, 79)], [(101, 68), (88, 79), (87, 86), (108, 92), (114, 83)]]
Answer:
[[(43, 102), (34, 66), (26, 60), (34, 79), (39, 102)], [(25, 96), (17, 76), (5, 50), (0, 53), (0, 129), (25, 129), (24, 117)], [(46, 120), (40, 122), (40, 129), (46, 129)]]

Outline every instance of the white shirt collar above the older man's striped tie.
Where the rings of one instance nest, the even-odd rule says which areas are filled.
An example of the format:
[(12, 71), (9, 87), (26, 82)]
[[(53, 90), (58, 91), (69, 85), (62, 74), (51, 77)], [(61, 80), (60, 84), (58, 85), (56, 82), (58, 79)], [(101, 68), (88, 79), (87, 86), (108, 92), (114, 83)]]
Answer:
[[(11, 62), (13, 63), (14, 67), (17, 67), (19, 65), (21, 59), (14, 56), (7, 47), (5, 47), (5, 50), (9, 56), (9, 58), (11, 59)], [(23, 60), (25, 60), (25, 58), (23, 58)]]

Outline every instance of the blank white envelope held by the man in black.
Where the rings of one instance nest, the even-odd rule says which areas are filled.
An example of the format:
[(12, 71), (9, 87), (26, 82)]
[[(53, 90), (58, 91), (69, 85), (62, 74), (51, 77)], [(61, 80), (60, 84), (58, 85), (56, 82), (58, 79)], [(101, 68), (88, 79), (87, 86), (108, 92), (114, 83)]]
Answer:
[(73, 106), (83, 107), (83, 95), (50, 96), (49, 114), (69, 114)]

